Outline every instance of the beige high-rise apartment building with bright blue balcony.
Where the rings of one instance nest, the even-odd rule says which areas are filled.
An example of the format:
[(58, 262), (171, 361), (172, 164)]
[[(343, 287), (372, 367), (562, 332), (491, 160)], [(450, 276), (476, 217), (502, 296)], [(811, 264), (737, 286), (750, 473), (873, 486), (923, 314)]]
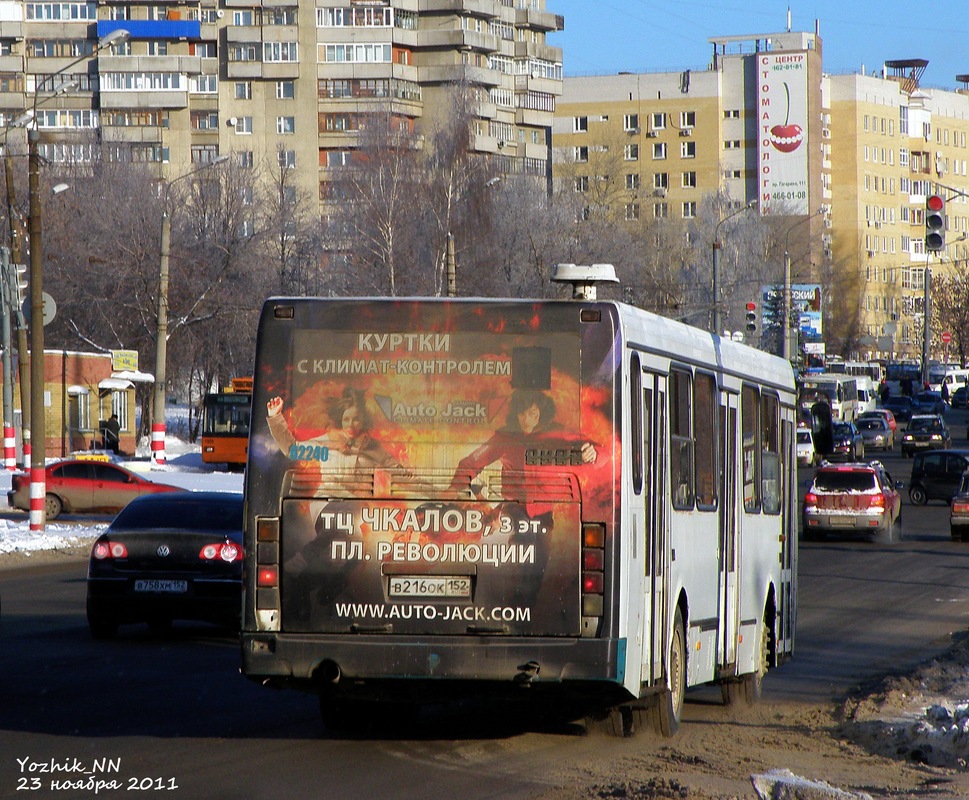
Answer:
[(545, 0), (0, 0), (0, 115), (16, 146), (36, 109), (54, 164), (100, 145), (168, 180), (220, 155), (293, 169), (323, 213), (368, 115), (420, 133), (453, 84), (476, 152), (550, 175), (562, 55), (545, 38), (563, 25)]

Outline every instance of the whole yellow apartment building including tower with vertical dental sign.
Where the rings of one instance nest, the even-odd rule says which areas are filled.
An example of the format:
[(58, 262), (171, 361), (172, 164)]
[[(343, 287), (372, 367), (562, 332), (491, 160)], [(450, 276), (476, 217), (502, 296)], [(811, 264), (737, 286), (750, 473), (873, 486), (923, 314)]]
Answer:
[[(926, 266), (939, 274), (969, 253), (967, 89), (921, 87), (917, 59), (825, 74), (817, 30), (708, 41), (704, 69), (567, 78), (556, 175), (590, 213), (689, 220), (720, 193), (789, 218), (789, 233), (807, 232), (800, 271), (821, 285), (826, 329), (864, 358), (920, 355)], [(617, 152), (621, 187), (601, 191)], [(950, 198), (939, 255), (924, 247), (933, 192)]]

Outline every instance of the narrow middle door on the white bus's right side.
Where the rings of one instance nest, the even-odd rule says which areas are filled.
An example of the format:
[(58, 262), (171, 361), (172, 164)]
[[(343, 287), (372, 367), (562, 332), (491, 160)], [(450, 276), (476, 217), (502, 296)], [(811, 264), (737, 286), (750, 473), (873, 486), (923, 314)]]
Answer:
[(720, 646), (717, 664), (721, 668), (737, 663), (737, 465), (743, 460), (743, 454), (738, 452), (737, 442), (738, 399), (739, 395), (726, 394), (722, 396), (720, 405)]

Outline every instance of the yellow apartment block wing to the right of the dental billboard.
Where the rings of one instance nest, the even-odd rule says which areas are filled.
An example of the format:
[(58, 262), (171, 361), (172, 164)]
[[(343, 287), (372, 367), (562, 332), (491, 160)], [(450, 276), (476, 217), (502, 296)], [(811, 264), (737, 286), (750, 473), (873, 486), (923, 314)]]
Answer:
[[(920, 86), (927, 63), (889, 61), (876, 75), (826, 79), (833, 255), (859, 273), (866, 356), (886, 336), (897, 354), (919, 355), (926, 267), (938, 276), (969, 256), (960, 240), (969, 230), (969, 94)], [(926, 198), (937, 192), (948, 198), (948, 247), (938, 254), (926, 252), (924, 227)], [(931, 343), (939, 357), (940, 333), (936, 326)]]

